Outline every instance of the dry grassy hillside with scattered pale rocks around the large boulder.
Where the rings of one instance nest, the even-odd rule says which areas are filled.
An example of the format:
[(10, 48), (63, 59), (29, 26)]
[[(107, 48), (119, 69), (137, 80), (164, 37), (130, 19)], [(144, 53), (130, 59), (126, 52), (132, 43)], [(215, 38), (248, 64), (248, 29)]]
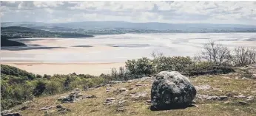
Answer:
[[(242, 68), (241, 68), (242, 69)], [(244, 68), (243, 68), (244, 69)], [(237, 72), (239, 73), (239, 72)], [(235, 73), (190, 78), (197, 89), (195, 104), (186, 109), (151, 111), (154, 77), (112, 81), (72, 93), (34, 98), (13, 107), (21, 115), (244, 115), (256, 114), (256, 80), (236, 79)], [(65, 96), (75, 101), (59, 101)]]

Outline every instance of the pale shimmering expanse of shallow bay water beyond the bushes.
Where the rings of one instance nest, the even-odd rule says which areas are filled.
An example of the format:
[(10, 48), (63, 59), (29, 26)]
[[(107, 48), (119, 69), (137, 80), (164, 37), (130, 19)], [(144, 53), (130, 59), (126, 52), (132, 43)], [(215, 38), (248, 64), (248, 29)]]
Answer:
[[(152, 51), (162, 52), (169, 56), (192, 56), (200, 53), (203, 43), (207, 43), (209, 40), (216, 40), (217, 43), (222, 43), (229, 48), (235, 46), (256, 48), (256, 44), (254, 44), (256, 33), (98, 35), (91, 38), (65, 38), (55, 41), (55, 45), (51, 46), (33, 45), (24, 39), (23, 41), (30, 44), (29, 47), (2, 48), (5, 50), (1, 51), (1, 60), (16, 62), (125, 62), (127, 59), (151, 57)], [(105, 46), (105, 48), (94, 48), (95, 46)], [(61, 48), (63, 51), (60, 50)], [(66, 48), (71, 50), (66, 50)], [(90, 51), (87, 48), (90, 48)], [(35, 52), (27, 52), (31, 49)]]

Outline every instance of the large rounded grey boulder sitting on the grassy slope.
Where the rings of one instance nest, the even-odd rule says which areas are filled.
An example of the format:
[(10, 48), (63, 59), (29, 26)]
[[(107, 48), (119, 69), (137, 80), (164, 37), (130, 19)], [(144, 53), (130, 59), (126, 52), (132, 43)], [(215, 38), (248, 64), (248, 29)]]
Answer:
[(162, 71), (151, 88), (152, 110), (186, 108), (195, 98), (195, 87), (176, 71)]

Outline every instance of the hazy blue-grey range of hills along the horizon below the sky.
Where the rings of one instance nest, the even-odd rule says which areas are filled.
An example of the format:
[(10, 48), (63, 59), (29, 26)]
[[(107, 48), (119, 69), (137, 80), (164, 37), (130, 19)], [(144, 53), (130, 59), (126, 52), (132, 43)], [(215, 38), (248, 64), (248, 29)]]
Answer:
[[(256, 32), (256, 26), (241, 24), (211, 24), (211, 23), (130, 23), (124, 21), (84, 21), (71, 23), (33, 23), (21, 22), (1, 23), (1, 26), (24, 26), (33, 29), (53, 31), (78, 31), (83, 29), (102, 32), (102, 29), (112, 29), (110, 33), (127, 32)], [(116, 32), (121, 31), (121, 32)]]

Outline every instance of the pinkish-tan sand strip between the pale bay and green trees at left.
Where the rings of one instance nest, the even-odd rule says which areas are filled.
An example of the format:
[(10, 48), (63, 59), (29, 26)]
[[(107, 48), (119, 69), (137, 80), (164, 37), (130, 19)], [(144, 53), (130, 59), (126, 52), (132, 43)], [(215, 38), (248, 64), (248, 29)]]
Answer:
[(11, 65), (22, 70), (27, 70), (36, 74), (68, 74), (68, 73), (82, 73), (91, 75), (101, 75), (101, 73), (110, 73), (111, 68), (119, 68), (125, 63), (39, 63), (39, 62), (1, 62), (3, 65)]

